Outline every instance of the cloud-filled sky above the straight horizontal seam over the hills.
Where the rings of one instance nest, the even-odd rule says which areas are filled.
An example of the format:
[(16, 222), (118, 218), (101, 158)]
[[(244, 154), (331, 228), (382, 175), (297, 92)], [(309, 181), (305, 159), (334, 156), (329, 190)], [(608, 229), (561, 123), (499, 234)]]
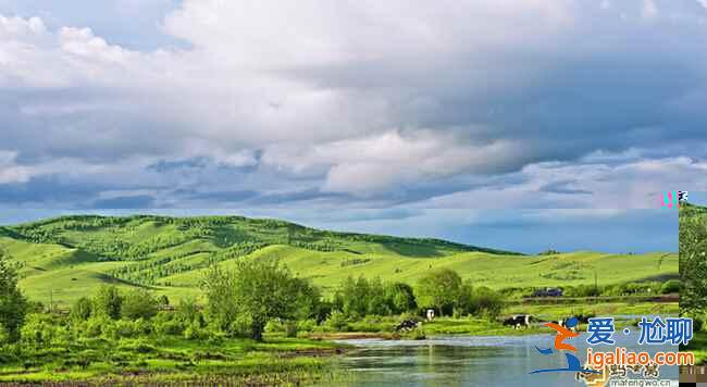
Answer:
[(0, 0), (0, 207), (655, 208), (707, 190), (706, 7)]

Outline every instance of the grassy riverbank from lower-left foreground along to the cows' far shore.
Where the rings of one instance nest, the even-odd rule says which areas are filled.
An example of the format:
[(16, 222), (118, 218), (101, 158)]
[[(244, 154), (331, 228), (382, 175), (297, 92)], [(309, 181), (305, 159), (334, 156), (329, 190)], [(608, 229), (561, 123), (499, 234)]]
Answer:
[[(504, 310), (504, 315), (529, 313), (541, 321), (578, 313), (623, 315), (624, 319), (616, 321), (619, 329), (635, 324), (636, 315), (673, 315), (677, 311), (677, 304), (671, 303), (611, 303), (582, 309), (513, 305)], [(339, 329), (314, 325), (309, 330), (300, 330), (297, 338), (285, 337), (285, 332), (277, 330), (283, 325), (272, 324), (274, 329), (265, 334), (264, 341), (213, 333), (190, 338), (185, 334), (154, 333), (133, 333), (137, 336), (125, 337), (131, 333), (103, 329), (99, 336), (85, 337), (61, 327), (54, 327), (51, 336), (47, 336), (47, 330), (27, 330), (26, 334), (34, 335), (26, 337), (28, 342), (36, 345), (5, 346), (0, 351), (0, 383), (328, 385), (345, 377), (335, 360), (349, 350), (347, 345), (334, 340), (553, 334), (537, 323), (514, 329), (497, 319), (485, 317), (436, 317), (432, 322), (423, 321), (412, 332), (396, 332), (396, 325), (407, 319), (410, 316), (367, 316), (346, 321)], [(695, 342), (705, 339), (696, 335)], [(707, 357), (703, 354), (700, 359)]]

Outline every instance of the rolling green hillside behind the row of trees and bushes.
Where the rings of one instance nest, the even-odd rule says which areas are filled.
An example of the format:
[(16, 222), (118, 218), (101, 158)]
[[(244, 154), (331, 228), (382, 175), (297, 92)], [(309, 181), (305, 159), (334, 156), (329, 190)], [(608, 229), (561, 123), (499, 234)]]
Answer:
[(331, 291), (348, 275), (414, 283), (449, 267), (493, 288), (600, 285), (674, 277), (674, 253), (579, 251), (523, 255), (430, 238), (335, 233), (239, 216), (64, 216), (0, 227), (0, 248), (21, 263), (34, 299), (69, 303), (106, 283), (148, 286), (170, 298), (198, 296), (210, 264), (278, 258)]

